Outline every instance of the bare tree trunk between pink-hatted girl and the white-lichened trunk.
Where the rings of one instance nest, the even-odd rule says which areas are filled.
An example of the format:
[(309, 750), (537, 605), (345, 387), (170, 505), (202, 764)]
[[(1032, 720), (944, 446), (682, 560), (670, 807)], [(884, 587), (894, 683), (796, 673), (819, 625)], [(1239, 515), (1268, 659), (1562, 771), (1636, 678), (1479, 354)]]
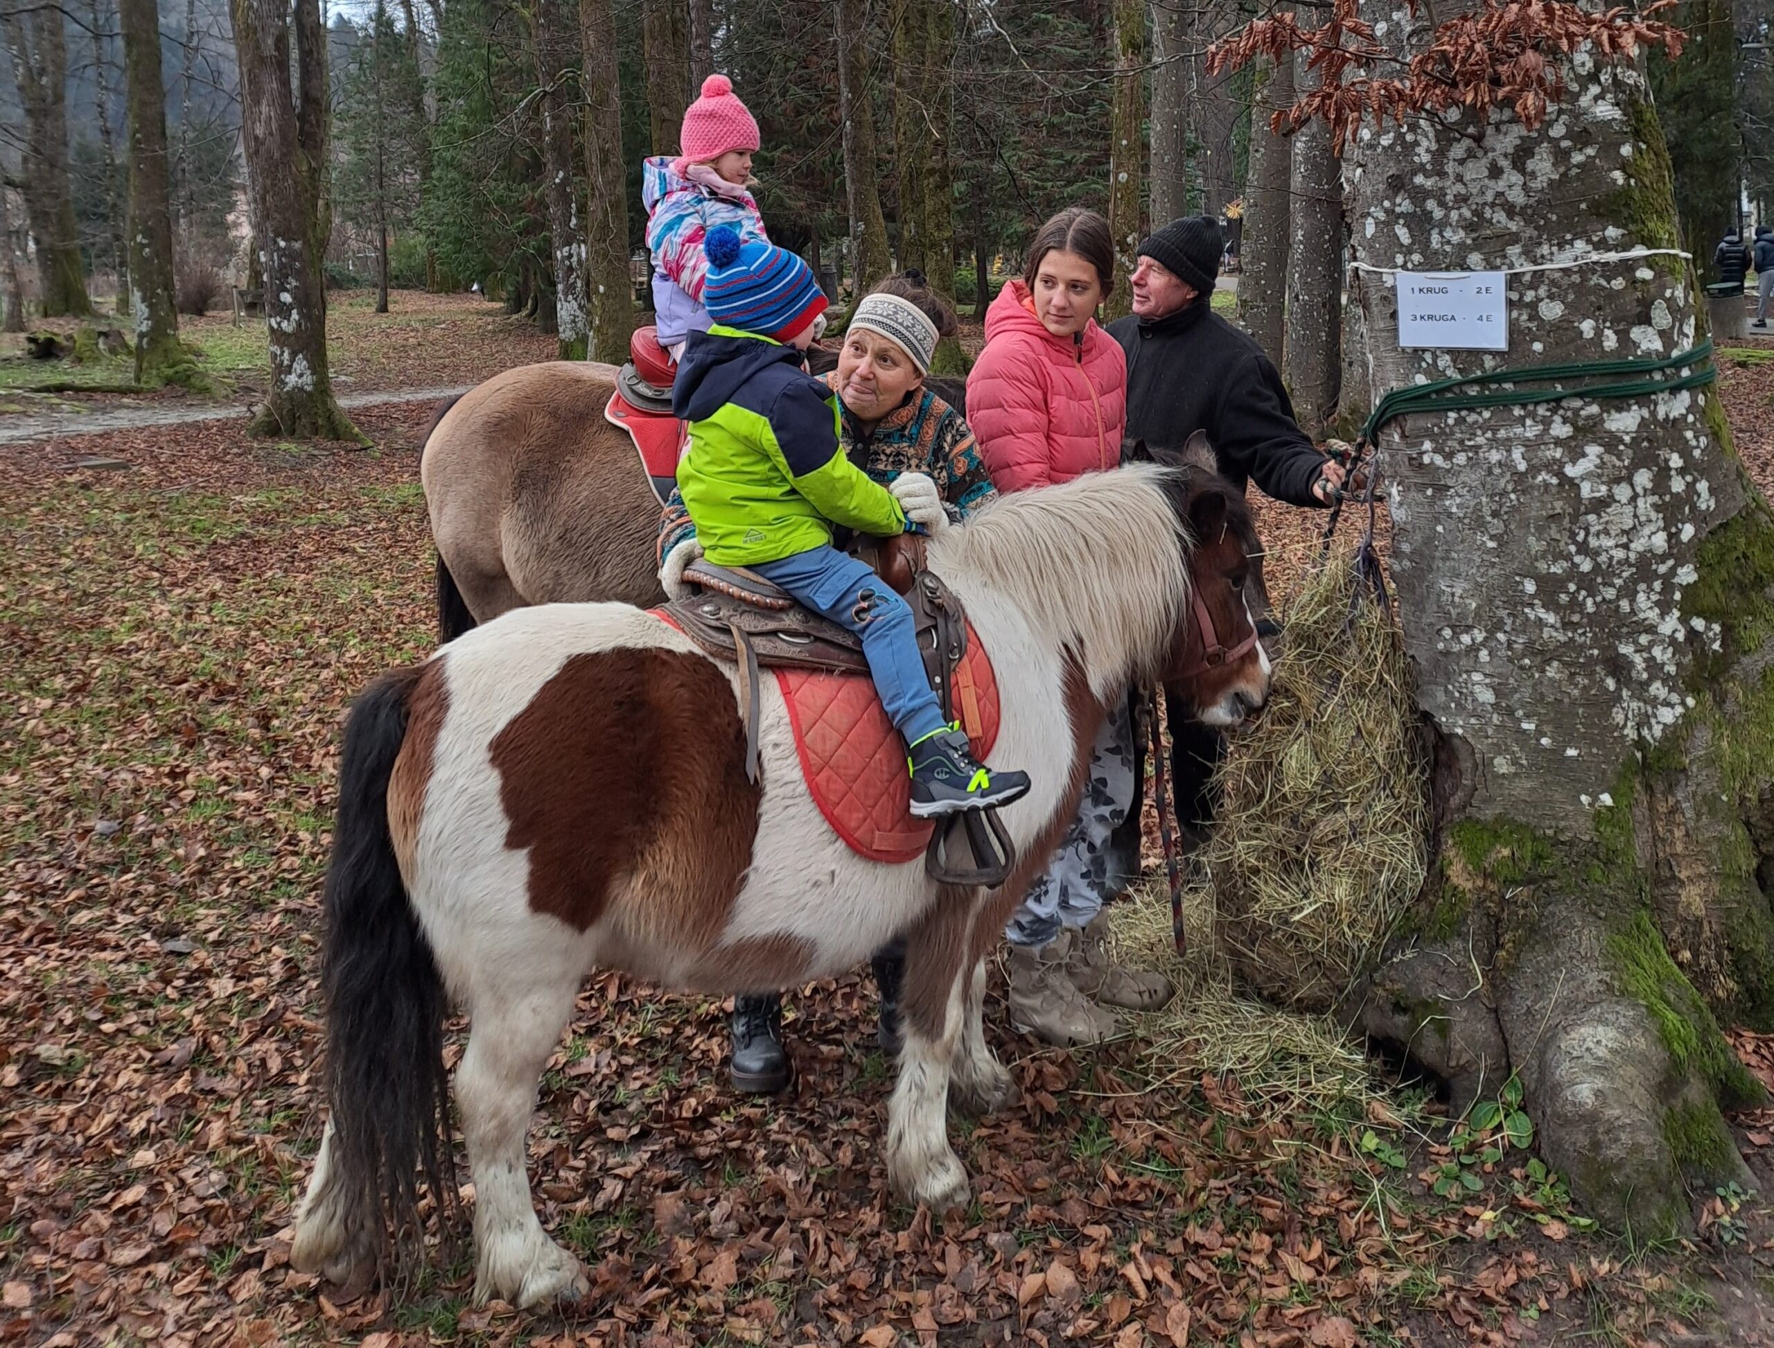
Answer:
[(628, 278), (628, 174), (623, 163), (623, 90), (616, 64), (610, 0), (578, 0), (580, 59), (585, 90), (585, 291), (587, 351), (621, 364), (635, 330)]

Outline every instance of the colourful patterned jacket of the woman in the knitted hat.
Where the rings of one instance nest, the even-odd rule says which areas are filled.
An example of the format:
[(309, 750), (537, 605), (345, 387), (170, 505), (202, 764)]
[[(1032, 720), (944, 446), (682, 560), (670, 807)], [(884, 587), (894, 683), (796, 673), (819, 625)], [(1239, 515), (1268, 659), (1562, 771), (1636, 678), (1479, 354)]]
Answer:
[[(825, 387), (837, 392), (837, 372), (821, 374)], [(843, 401), (839, 401), (843, 410)], [(954, 408), (937, 397), (930, 388), (919, 390), (917, 397), (907, 399), (905, 406), (889, 411), (873, 429), (864, 431), (855, 419), (844, 411), (839, 438), (844, 454), (882, 486), (892, 482), (899, 474), (930, 474), (949, 504), (949, 514), (965, 520), (985, 506), (997, 493), (992, 488), (992, 475), (979, 459), (979, 447), (974, 433)], [(665, 553), (685, 539), (695, 537), (695, 525), (683, 507), (683, 497), (671, 493), (665, 502), (665, 514), (660, 520), (660, 564)]]

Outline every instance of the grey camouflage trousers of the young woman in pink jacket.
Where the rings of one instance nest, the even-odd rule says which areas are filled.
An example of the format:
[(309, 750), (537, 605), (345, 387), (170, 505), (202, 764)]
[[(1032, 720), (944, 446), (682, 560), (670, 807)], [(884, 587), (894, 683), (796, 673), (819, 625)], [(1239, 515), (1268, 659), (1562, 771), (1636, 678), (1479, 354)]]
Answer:
[(1011, 915), (1013, 945), (1047, 945), (1061, 928), (1082, 928), (1109, 897), (1109, 835), (1134, 803), (1134, 724), (1126, 699), (1109, 713), (1091, 750), (1091, 777), (1047, 873)]

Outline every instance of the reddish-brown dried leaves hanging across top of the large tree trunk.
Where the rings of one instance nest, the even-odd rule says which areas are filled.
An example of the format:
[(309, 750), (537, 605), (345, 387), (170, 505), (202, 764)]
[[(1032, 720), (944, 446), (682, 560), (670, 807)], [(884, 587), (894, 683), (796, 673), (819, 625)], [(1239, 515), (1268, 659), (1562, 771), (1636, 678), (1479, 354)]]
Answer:
[[(1483, 0), (1474, 11), (1439, 23), (1430, 44), (1407, 60), (1378, 41), (1373, 25), (1357, 14), (1355, 0), (1336, 0), (1330, 18), (1316, 28), (1286, 11), (1254, 20), (1208, 51), (1208, 71), (1219, 74), (1256, 57), (1281, 60), (1309, 51), (1306, 66), (1322, 74), (1322, 83), (1291, 108), (1277, 110), (1268, 126), (1283, 135), (1322, 117), (1339, 154), (1364, 117), (1380, 126), (1387, 117), (1403, 122), (1407, 114), (1465, 108), (1483, 126), (1492, 108), (1513, 108), (1535, 129), (1565, 96), (1565, 62), (1581, 46), (1590, 44), (1600, 60), (1632, 59), (1641, 46), (1660, 46), (1671, 60), (1682, 55), (1687, 35), (1652, 18), (1673, 4), (1591, 11), (1565, 0)], [(1410, 12), (1417, 12), (1414, 0)], [(1378, 69), (1403, 73), (1375, 74)]]

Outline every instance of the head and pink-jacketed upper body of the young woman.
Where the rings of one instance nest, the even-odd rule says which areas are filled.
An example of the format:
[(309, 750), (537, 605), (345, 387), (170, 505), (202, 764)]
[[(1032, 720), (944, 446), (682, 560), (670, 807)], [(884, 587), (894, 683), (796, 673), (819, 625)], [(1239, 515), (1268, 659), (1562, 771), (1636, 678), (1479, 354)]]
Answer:
[(1022, 280), (986, 310), (967, 420), (999, 491), (1070, 482), (1121, 461), (1126, 355), (1093, 317), (1112, 284), (1109, 222), (1073, 208), (1041, 225)]

